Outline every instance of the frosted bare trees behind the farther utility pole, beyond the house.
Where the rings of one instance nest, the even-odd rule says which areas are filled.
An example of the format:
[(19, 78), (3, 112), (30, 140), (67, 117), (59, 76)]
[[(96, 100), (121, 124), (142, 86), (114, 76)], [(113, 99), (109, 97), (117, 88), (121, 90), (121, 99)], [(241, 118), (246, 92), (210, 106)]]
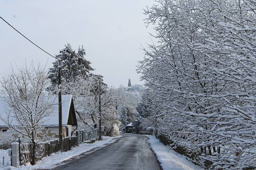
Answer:
[[(91, 75), (77, 77), (69, 82), (63, 81), (62, 84), (62, 93), (73, 96), (76, 114), (80, 123), (91, 128), (100, 118), (99, 83), (102, 83), (101, 78), (99, 79), (97, 75)], [(127, 96), (122, 88), (107, 87), (104, 84), (100, 88), (102, 125), (107, 128), (107, 132), (110, 132), (113, 130), (114, 125), (118, 124), (116, 105), (123, 104), (127, 100)]]

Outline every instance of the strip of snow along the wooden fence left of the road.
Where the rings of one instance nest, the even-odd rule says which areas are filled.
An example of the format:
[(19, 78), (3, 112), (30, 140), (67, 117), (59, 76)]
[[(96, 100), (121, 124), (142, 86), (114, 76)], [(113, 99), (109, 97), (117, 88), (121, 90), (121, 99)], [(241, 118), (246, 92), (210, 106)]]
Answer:
[(36, 163), (36, 165), (26, 165), (21, 166), (20, 168), (15, 168), (12, 166), (0, 167), (0, 170), (34, 170), (34, 169), (52, 169), (60, 164), (61, 162), (68, 160), (72, 157), (78, 156), (84, 152), (90, 151), (94, 148), (100, 149), (105, 147), (107, 144), (113, 143), (116, 141), (117, 137), (108, 137), (104, 136), (103, 141), (96, 141), (92, 144), (79, 144), (77, 147), (73, 147), (70, 151), (67, 152), (57, 152), (53, 153), (50, 156), (44, 157), (42, 160)]

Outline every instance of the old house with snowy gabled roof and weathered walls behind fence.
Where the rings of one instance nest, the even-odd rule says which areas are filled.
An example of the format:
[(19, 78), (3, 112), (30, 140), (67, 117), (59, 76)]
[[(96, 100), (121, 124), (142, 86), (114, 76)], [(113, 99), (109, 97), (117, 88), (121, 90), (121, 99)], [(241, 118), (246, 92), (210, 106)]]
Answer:
[[(62, 95), (62, 137), (71, 136), (72, 126), (77, 126), (76, 112), (73, 103), (72, 95)], [(59, 138), (59, 109), (58, 109), (58, 97), (52, 96), (51, 100), (56, 106), (51, 116), (44, 117), (42, 122), (43, 128), (39, 131), (37, 140), (47, 141), (55, 138)], [(6, 111), (7, 104), (2, 98), (0, 98), (0, 116), (2, 118), (7, 117)], [(19, 126), (18, 122), (13, 120), (13, 125)], [(0, 144), (13, 142), (16, 138), (20, 137), (21, 140), (29, 140), (28, 137), (22, 136), (17, 131), (13, 131), (3, 120), (0, 119)]]

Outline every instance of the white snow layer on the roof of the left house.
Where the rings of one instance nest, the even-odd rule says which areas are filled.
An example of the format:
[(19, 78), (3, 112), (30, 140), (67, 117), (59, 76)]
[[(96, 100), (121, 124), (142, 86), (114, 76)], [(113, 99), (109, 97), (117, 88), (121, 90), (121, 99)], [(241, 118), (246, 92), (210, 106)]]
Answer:
[[(72, 101), (72, 95), (62, 95), (62, 125), (67, 125), (68, 123), (68, 115), (69, 115), (69, 109)], [(46, 123), (42, 124), (43, 126), (56, 126), (59, 125), (59, 109), (58, 109), (58, 97), (57, 96), (52, 96), (52, 100), (54, 100), (53, 104), (56, 106), (52, 112), (52, 116), (44, 117), (42, 121), (48, 120)], [(0, 97), (0, 116), (1, 117), (7, 117), (6, 111), (6, 103), (3, 101), (3, 98)], [(13, 120), (13, 124), (18, 123)], [(5, 127), (7, 124), (5, 124), (1, 119), (0, 119), (0, 127)]]

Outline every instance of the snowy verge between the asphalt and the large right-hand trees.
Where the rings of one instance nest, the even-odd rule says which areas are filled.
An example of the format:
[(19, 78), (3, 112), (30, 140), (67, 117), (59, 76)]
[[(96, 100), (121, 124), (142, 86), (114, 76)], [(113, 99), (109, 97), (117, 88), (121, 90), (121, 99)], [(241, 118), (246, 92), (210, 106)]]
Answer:
[(199, 170), (199, 166), (188, 161), (184, 156), (165, 146), (154, 136), (148, 136), (147, 142), (151, 145), (152, 150), (156, 153), (163, 170)]

